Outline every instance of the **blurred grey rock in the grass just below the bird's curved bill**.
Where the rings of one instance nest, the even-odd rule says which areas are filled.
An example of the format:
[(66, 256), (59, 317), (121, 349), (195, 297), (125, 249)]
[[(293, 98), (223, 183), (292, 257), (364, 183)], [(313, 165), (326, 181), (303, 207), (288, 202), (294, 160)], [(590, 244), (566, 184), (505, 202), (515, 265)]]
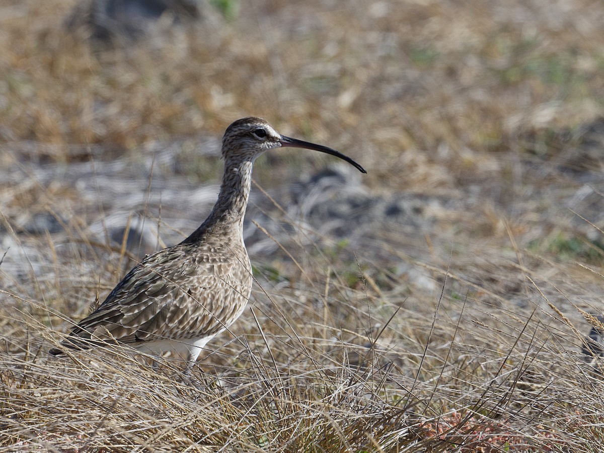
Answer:
[(279, 216), (269, 204), (249, 209), (244, 235), (250, 253), (268, 255), (278, 248), (274, 240), (251, 225), (251, 220), (279, 242), (288, 242), (295, 235), (303, 245), (320, 237), (367, 245), (385, 225), (401, 235), (421, 237), (437, 213), (445, 209), (445, 202), (422, 194), (372, 195), (362, 184), (361, 174), (339, 162), (271, 195), (285, 215)]

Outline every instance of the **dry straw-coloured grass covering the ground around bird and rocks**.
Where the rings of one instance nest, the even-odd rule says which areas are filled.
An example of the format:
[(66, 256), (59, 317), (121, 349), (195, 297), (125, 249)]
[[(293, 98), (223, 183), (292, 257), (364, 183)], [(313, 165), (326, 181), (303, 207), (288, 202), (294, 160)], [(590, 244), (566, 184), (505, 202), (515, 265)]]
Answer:
[[(0, 5), (2, 451), (604, 449), (579, 355), (603, 311), (602, 2), (255, 0), (117, 47), (63, 28), (75, 3)], [(147, 179), (215, 182), (199, 137), (245, 115), (346, 152), (376, 196), (442, 203), (405, 234), (377, 219), (252, 256), (251, 307), (192, 382), (117, 349), (49, 358), (128, 265), (86, 230), (106, 188), (90, 203), (69, 169), (171, 147), (178, 169)], [(322, 159), (274, 153), (255, 178)], [(22, 228), (43, 212), (59, 233)]]

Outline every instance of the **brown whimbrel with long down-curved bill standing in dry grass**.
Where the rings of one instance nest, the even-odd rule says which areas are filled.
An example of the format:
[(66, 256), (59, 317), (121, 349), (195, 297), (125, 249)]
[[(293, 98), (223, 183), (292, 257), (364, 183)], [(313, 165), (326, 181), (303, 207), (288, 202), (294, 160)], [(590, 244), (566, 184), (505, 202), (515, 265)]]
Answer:
[(233, 324), (248, 302), (252, 269), (243, 243), (243, 216), (252, 165), (263, 152), (279, 147), (324, 152), (366, 173), (348, 156), (284, 137), (260, 118), (235, 121), (222, 138), (225, 169), (210, 216), (187, 239), (147, 256), (128, 272), (61, 344), (79, 350), (112, 342), (152, 355), (187, 353), (188, 373), (205, 344)]

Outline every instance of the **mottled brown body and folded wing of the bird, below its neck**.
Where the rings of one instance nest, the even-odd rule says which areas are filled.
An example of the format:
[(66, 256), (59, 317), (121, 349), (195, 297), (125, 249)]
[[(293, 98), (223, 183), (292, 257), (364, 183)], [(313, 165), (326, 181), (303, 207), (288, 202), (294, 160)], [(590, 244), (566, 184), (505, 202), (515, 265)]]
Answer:
[(247, 254), (220, 245), (164, 249), (133, 268), (63, 344), (213, 335), (240, 315), (251, 281)]

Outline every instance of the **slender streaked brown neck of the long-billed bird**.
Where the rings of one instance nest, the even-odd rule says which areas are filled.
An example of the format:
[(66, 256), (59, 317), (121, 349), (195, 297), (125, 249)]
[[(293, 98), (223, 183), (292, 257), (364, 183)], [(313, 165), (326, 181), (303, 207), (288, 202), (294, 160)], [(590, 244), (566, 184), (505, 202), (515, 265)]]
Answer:
[(243, 238), (243, 217), (248, 205), (253, 160), (225, 161), (218, 201), (210, 216), (183, 242), (199, 242), (210, 234)]

